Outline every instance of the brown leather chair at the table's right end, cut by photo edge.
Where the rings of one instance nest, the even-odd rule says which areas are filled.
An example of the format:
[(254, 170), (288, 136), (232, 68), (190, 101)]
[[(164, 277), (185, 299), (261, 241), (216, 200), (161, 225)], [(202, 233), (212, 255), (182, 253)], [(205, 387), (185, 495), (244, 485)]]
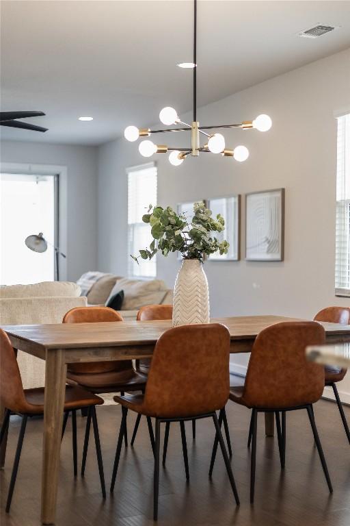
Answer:
[[(341, 323), (342, 325), (350, 325), (350, 308), (348, 307), (327, 307), (323, 310), (320, 310), (314, 317), (316, 321), (326, 321), (329, 323)], [(347, 418), (344, 414), (344, 409), (342, 408), (342, 403), (340, 401), (338, 388), (336, 383), (342, 380), (347, 374), (347, 369), (345, 368), (336, 368), (332, 366), (325, 366), (325, 386), (332, 387), (334, 392), (334, 397), (336, 398), (336, 403), (338, 405), (338, 410), (340, 412), (340, 417), (342, 419), (342, 425), (344, 426), (345, 433), (347, 434), (347, 439), (350, 443), (350, 431), (349, 425), (347, 423)]]

